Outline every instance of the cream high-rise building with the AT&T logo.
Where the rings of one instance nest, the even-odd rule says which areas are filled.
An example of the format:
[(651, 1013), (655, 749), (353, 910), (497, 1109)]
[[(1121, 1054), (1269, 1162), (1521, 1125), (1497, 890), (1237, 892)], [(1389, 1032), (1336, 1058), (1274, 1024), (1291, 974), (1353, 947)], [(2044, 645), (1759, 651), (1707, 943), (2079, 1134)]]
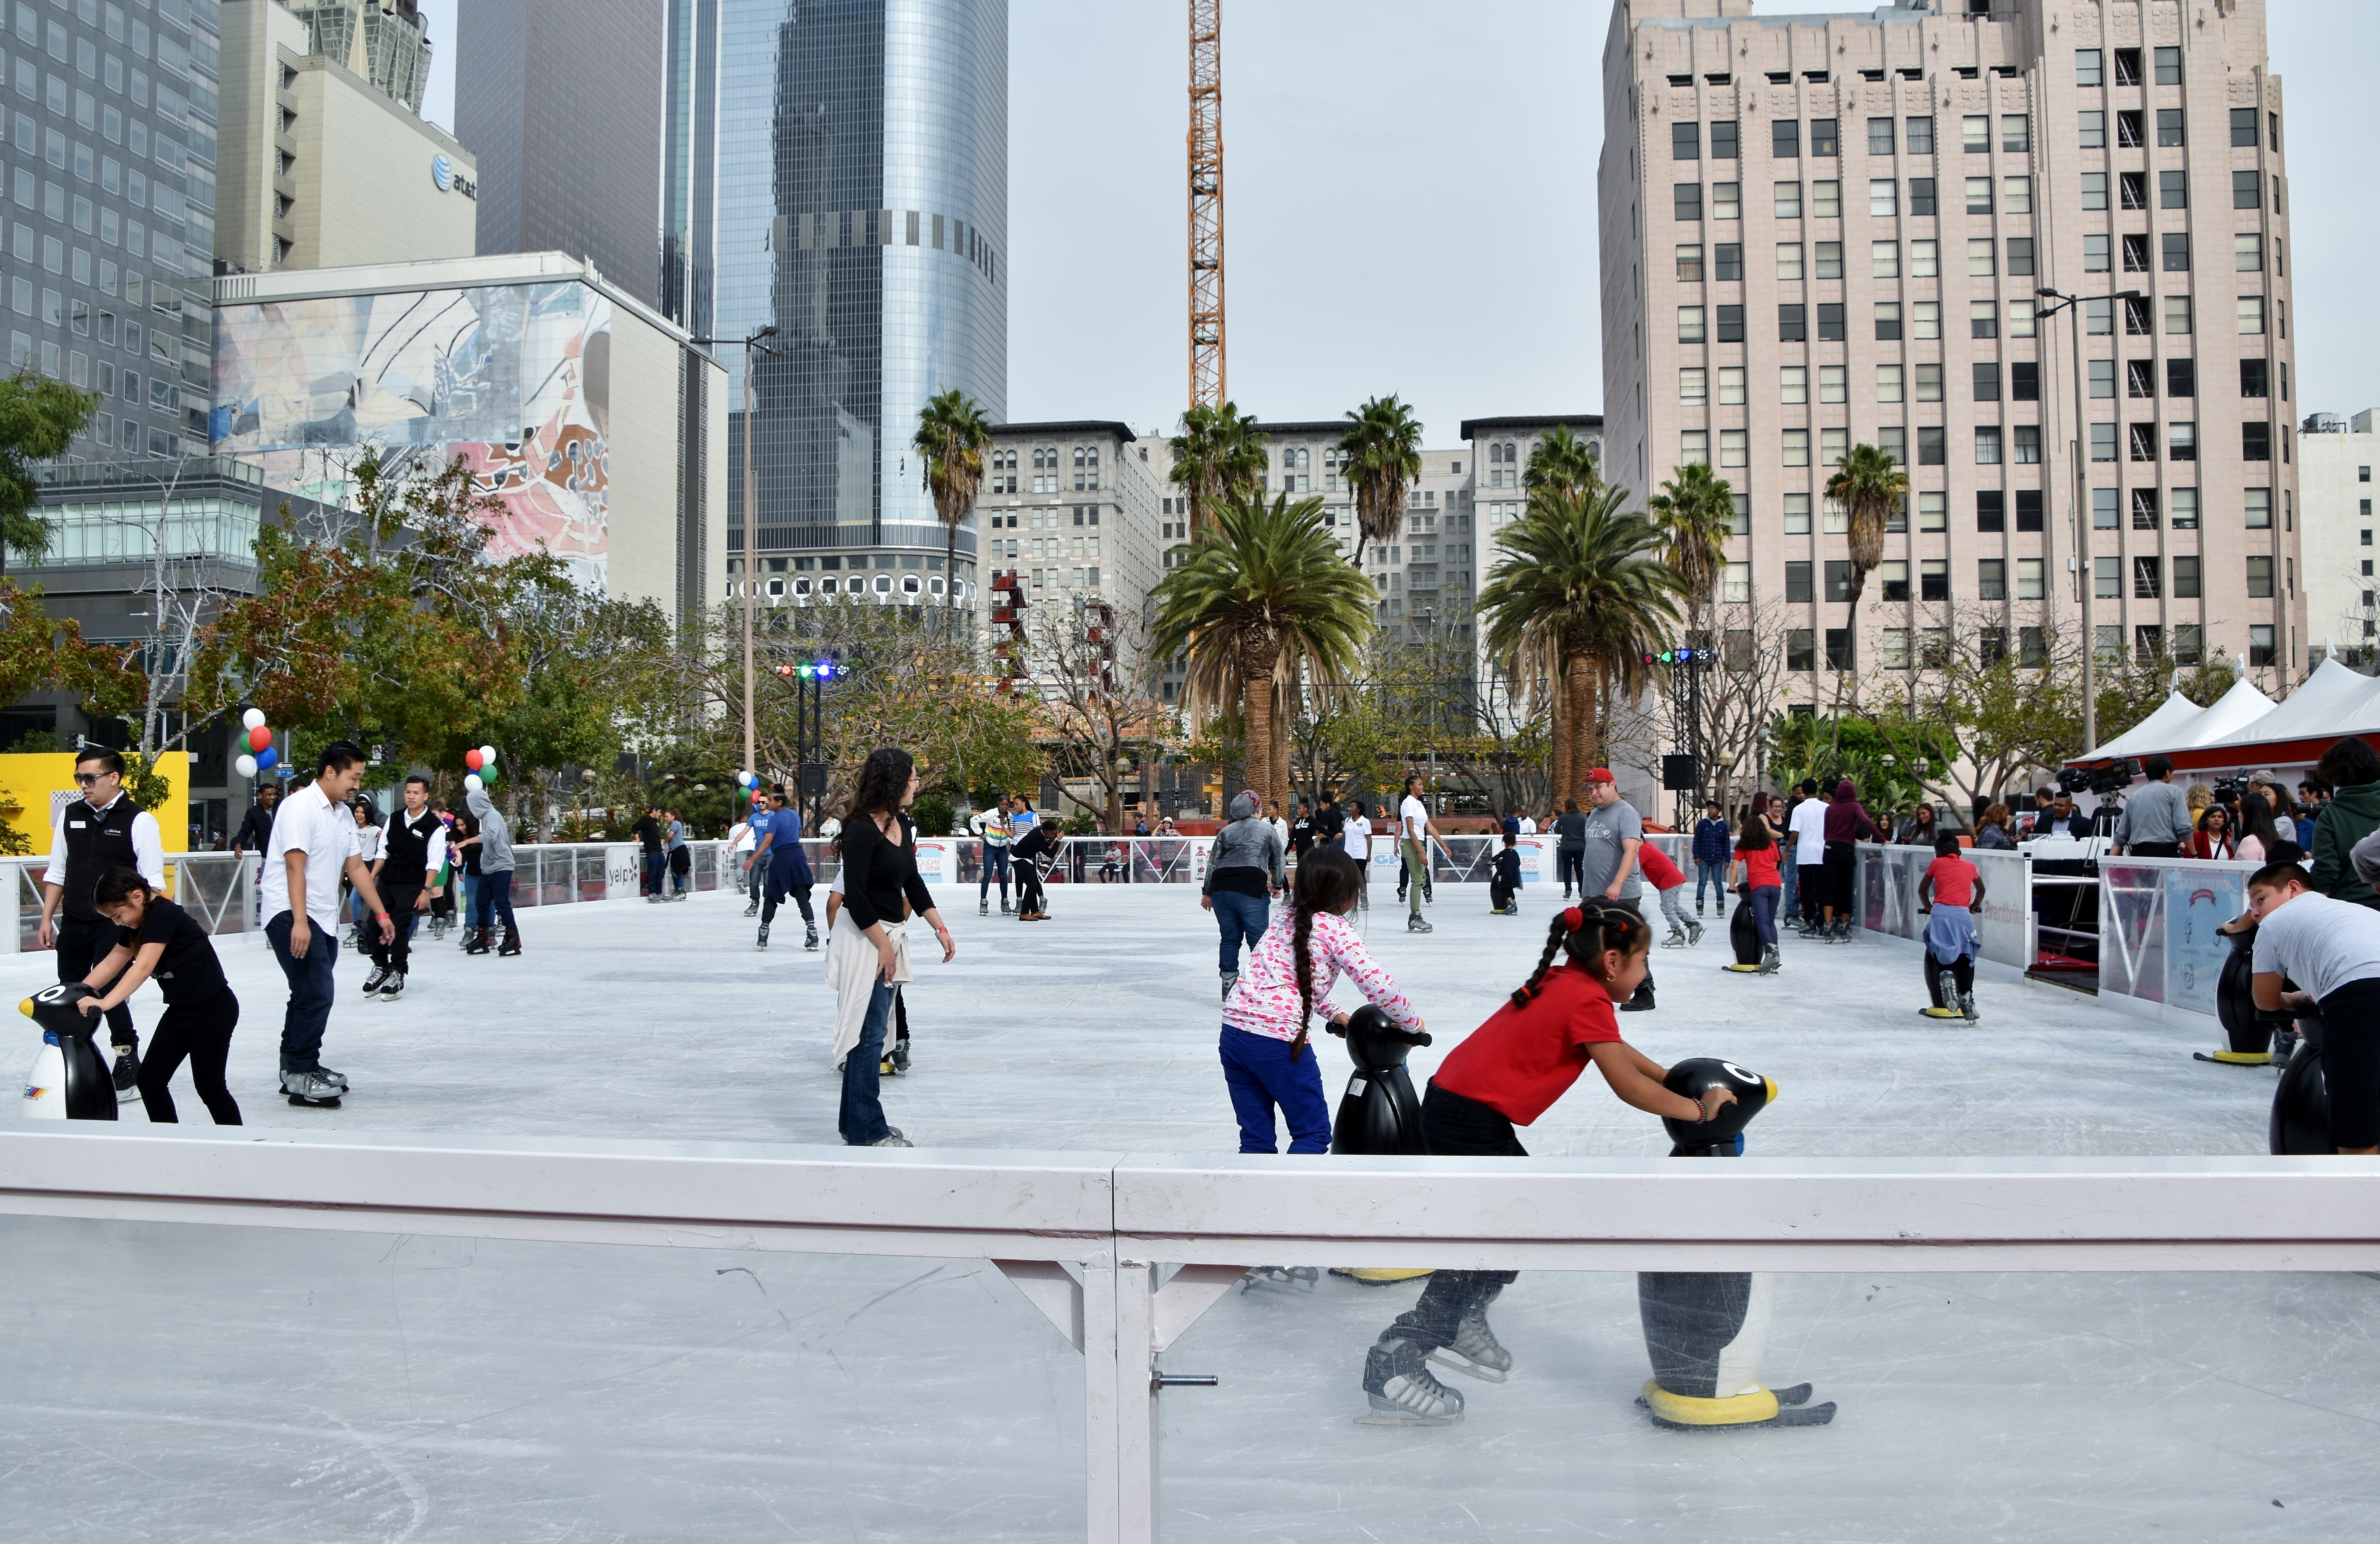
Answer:
[(224, 0), (224, 271), (471, 257), (478, 164), (421, 117), (428, 52), (412, 0)]

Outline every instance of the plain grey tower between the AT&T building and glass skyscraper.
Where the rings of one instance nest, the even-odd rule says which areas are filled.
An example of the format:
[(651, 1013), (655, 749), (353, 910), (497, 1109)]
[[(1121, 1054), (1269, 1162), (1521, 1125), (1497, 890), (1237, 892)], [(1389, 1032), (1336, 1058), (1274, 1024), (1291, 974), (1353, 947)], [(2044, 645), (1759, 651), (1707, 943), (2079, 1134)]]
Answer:
[(569, 252), (659, 302), (662, 0), (469, 0), (455, 138), (478, 252)]

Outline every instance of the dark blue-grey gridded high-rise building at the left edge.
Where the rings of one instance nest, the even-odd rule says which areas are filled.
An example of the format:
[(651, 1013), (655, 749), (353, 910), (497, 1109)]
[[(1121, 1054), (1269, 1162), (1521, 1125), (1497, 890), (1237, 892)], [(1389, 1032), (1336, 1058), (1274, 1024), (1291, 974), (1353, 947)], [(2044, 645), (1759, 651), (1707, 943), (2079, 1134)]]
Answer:
[(214, 0), (12, 5), (7, 343), (100, 395), (74, 459), (205, 452)]

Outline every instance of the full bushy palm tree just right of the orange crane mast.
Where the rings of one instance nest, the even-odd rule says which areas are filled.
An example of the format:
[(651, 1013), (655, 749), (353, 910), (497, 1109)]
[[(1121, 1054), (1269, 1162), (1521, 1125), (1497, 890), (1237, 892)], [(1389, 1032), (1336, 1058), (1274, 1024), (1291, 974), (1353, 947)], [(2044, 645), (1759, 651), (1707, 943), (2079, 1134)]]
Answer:
[(1371, 585), (1338, 561), (1321, 500), (1235, 492), (1211, 507), (1211, 523), (1185, 561), (1150, 595), (1152, 645), (1185, 659), (1190, 716), (1240, 707), (1247, 785), (1288, 809), (1290, 766), (1276, 754), (1276, 692), (1283, 673), (1335, 685), (1371, 635)]

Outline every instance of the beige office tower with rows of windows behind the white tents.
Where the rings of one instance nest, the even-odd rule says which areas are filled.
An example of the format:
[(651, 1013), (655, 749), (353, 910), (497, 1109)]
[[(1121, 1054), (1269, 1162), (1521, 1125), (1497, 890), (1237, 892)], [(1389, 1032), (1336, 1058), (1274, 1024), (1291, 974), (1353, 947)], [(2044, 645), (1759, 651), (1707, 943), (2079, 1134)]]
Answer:
[[(2080, 640), (2085, 609), (2102, 659), (2223, 649), (2282, 692), (2309, 645), (2282, 145), (2266, 0), (1618, 0), (1609, 476), (1642, 497), (1709, 459), (1742, 495), (1723, 600), (1773, 602), (1795, 702), (1890, 695), (1954, 638)], [(2040, 290), (2080, 305), (2037, 319)], [(1911, 497), (1854, 619), (1823, 488), (1859, 443)]]

